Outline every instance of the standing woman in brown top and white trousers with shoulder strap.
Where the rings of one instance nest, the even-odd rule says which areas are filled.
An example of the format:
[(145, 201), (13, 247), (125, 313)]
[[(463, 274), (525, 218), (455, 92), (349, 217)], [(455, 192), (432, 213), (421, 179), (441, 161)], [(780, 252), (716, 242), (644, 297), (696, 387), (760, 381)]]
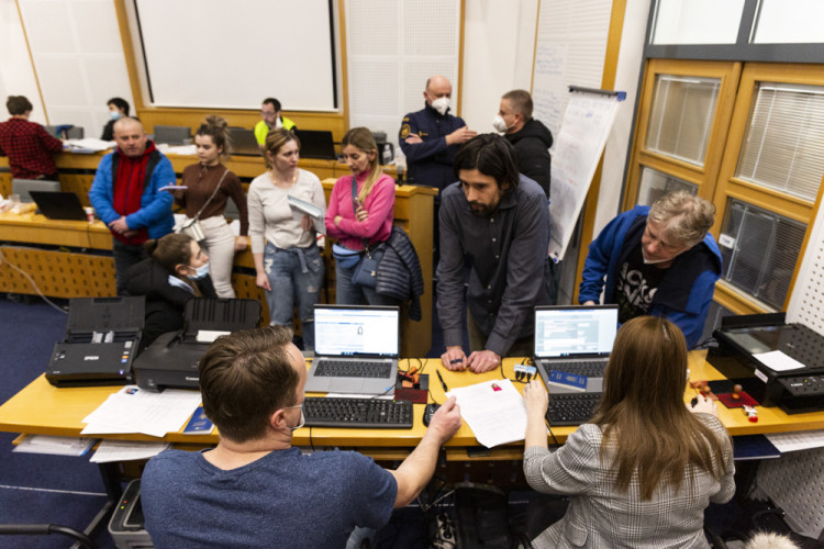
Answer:
[[(226, 121), (221, 116), (208, 116), (194, 133), (198, 164), (183, 169), (181, 186), (175, 191), (175, 202), (186, 210), (186, 223), (194, 216), (200, 220), (205, 247), (212, 258), (212, 282), (219, 298), (234, 298), (232, 265), (235, 253), (246, 249), (249, 222), (246, 212), (246, 193), (241, 180), (221, 164), (230, 157), (231, 143)], [(235, 236), (223, 217), (229, 199), (237, 206), (241, 216), (241, 235)]]

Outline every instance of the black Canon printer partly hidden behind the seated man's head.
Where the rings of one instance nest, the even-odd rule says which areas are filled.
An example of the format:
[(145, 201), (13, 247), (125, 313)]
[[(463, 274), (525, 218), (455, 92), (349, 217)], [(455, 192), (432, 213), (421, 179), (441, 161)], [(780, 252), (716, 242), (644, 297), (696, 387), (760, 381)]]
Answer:
[(152, 391), (200, 389), (198, 366), (216, 336), (260, 322), (256, 300), (199, 298), (186, 302), (183, 328), (160, 335), (134, 362), (137, 385)]

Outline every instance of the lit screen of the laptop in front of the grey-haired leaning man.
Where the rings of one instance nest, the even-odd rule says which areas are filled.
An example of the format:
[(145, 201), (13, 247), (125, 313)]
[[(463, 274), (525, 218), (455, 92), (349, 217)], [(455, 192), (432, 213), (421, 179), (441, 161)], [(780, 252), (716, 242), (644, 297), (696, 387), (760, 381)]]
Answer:
[(535, 309), (535, 358), (609, 355), (617, 306)]

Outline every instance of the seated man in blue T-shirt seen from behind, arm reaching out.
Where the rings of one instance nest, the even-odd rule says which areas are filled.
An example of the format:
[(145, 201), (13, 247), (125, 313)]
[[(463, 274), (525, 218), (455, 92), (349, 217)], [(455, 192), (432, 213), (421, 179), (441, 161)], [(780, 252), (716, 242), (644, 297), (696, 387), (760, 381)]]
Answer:
[(355, 451), (294, 446), (307, 366), (291, 339), (267, 326), (219, 337), (203, 355), (203, 411), (220, 442), (146, 464), (141, 502), (156, 547), (361, 547), (354, 530), (383, 527), (432, 478), (461, 424), (454, 396), (393, 471)]

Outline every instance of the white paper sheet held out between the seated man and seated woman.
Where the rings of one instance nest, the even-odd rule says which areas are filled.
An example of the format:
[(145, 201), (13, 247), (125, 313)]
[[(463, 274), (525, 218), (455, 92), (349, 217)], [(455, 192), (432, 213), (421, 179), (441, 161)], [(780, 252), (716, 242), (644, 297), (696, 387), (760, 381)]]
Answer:
[(526, 404), (511, 380), (492, 380), (453, 389), (460, 416), (487, 448), (523, 440), (526, 433)]

